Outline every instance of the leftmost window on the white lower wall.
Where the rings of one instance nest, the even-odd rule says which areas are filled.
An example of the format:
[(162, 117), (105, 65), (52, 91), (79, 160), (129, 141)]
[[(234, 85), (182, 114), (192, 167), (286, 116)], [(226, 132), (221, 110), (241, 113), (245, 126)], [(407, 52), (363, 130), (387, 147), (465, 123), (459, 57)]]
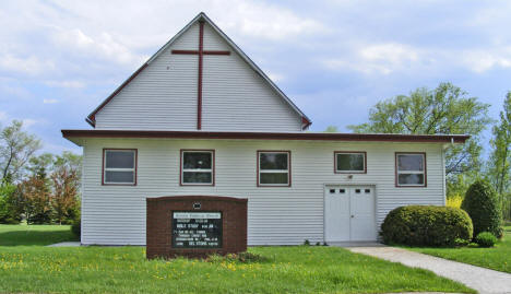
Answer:
[(136, 150), (103, 150), (103, 185), (136, 185)]

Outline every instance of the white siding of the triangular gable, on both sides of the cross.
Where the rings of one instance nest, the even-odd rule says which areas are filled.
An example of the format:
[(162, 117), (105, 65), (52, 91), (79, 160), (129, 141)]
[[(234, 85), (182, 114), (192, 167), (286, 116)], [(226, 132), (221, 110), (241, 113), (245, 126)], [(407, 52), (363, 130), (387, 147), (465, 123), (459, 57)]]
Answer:
[[(163, 51), (99, 113), (96, 129), (197, 130), (199, 24)], [(204, 25), (202, 130), (301, 130), (301, 117), (213, 28)], [(168, 69), (167, 69), (168, 68)]]

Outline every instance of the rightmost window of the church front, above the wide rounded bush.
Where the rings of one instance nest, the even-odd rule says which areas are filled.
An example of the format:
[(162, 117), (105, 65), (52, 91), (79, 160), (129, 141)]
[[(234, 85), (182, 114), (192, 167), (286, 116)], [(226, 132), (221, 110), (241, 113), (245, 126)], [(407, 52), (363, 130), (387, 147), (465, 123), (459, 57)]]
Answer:
[(395, 153), (397, 187), (426, 187), (426, 153)]

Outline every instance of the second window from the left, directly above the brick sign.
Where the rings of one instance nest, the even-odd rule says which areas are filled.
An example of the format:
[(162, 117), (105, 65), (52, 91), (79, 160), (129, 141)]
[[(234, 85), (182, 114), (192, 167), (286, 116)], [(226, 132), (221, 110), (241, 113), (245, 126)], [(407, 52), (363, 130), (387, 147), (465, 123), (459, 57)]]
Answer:
[(181, 150), (181, 185), (215, 185), (215, 151)]

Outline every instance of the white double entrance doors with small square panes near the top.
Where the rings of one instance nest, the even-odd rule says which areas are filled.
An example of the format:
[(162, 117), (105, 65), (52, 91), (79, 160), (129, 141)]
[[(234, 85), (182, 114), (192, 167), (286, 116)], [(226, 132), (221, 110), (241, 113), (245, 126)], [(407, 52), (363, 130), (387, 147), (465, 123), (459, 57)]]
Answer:
[(328, 186), (326, 242), (376, 240), (375, 187)]

